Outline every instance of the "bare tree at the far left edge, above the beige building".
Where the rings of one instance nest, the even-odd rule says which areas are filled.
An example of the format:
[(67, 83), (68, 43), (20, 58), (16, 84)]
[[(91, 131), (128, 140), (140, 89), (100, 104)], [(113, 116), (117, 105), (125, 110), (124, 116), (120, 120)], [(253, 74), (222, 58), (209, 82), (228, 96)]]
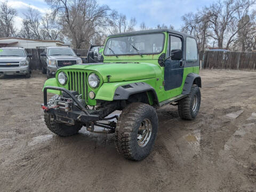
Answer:
[(14, 35), (13, 19), (17, 15), (17, 11), (7, 5), (7, 1), (0, 5), (0, 35), (9, 37)]

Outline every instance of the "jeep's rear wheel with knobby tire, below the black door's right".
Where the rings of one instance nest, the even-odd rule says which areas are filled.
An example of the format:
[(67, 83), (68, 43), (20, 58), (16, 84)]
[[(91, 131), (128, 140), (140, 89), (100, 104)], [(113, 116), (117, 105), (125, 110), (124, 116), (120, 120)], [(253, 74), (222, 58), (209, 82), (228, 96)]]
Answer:
[(188, 97), (178, 101), (179, 116), (182, 119), (196, 118), (201, 103), (201, 92), (197, 85), (191, 87)]

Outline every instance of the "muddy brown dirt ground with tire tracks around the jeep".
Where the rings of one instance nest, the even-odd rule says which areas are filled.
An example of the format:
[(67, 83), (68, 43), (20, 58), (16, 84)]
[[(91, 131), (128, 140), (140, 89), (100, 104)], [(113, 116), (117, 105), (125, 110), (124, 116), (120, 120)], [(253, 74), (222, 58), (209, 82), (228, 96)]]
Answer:
[(50, 132), (45, 75), (0, 77), (0, 191), (256, 191), (256, 72), (201, 76), (196, 120), (158, 109), (156, 143), (141, 162), (119, 155), (113, 134)]

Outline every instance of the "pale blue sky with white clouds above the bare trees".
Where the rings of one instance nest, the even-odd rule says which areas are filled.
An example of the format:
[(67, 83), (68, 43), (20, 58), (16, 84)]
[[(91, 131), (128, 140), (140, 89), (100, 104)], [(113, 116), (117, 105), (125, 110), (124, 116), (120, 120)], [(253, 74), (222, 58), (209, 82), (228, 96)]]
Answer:
[[(2, 2), (4, 0), (0, 0)], [(9, 5), (18, 10), (18, 17), (15, 18), (15, 27), (21, 28), (21, 17), (27, 11), (28, 6), (37, 9), (42, 14), (49, 11), (49, 6), (44, 0), (9, 0)], [(99, 0), (100, 4), (107, 4), (110, 9), (126, 15), (128, 19), (135, 17), (137, 25), (145, 21), (146, 26), (156, 27), (159, 23), (166, 26), (173, 25), (175, 29), (181, 27), (181, 16), (188, 12), (195, 12), (205, 5), (211, 4), (209, 0)]]

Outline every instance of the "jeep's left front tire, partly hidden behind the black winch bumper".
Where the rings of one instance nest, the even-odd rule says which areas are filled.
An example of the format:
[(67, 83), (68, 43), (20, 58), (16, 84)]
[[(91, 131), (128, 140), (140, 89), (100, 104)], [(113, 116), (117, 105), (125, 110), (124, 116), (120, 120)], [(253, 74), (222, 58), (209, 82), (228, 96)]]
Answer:
[[(54, 95), (49, 101), (47, 105), (53, 105), (55, 100), (58, 100), (59, 95)], [(82, 124), (79, 122), (75, 122), (75, 125), (69, 125), (66, 123), (57, 123), (54, 121), (54, 116), (50, 115), (49, 113), (44, 113), (44, 122), (48, 129), (62, 137), (70, 136), (78, 133), (79, 130), (82, 128)]]

